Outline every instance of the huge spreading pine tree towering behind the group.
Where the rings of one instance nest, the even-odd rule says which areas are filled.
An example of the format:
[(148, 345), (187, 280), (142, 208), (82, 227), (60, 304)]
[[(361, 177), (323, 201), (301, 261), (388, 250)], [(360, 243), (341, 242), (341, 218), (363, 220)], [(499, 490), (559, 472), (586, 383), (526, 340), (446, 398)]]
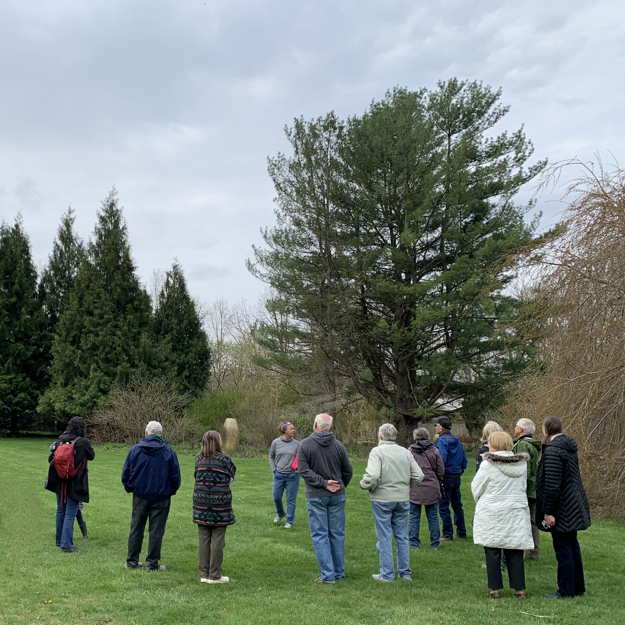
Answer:
[(522, 129), (492, 136), (500, 96), (456, 79), (394, 89), (331, 142), (321, 120), (297, 122), (292, 156), (270, 162), (277, 226), (254, 269), (294, 317), (276, 358), (321, 352), (404, 432), (443, 412), (479, 419), (531, 361), (506, 286), (545, 241), (514, 202), (545, 163), (527, 166)]

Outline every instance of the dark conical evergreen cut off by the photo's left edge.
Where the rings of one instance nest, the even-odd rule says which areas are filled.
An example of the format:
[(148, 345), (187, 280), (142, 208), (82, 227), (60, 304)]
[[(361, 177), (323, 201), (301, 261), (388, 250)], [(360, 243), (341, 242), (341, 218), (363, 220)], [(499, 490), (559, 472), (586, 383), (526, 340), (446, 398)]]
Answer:
[(0, 422), (12, 432), (46, 382), (45, 315), (31, 248), (18, 218), (0, 225)]

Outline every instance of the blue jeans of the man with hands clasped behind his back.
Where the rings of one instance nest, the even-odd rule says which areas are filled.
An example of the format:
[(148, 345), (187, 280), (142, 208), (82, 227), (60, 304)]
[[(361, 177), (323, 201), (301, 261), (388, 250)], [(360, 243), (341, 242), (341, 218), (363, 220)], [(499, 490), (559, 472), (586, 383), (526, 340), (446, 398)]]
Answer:
[(345, 579), (345, 495), (308, 497), (306, 507), (321, 579)]

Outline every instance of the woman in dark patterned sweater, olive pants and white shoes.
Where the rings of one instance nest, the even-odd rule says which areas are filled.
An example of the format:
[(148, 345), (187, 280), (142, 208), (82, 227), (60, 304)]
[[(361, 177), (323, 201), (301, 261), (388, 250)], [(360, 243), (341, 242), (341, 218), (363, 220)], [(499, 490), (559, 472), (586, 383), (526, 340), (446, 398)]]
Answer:
[(219, 432), (210, 430), (202, 436), (202, 446), (195, 462), (193, 522), (199, 530), (199, 577), (207, 584), (229, 582), (221, 574), (226, 544), (226, 527), (234, 523), (232, 492), (236, 466), (221, 451)]

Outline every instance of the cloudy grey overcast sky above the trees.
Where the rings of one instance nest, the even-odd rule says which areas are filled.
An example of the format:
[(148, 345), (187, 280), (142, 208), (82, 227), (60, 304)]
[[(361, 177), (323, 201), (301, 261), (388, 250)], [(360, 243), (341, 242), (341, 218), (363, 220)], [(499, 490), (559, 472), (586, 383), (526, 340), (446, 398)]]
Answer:
[(0, 218), (42, 261), (68, 205), (87, 238), (115, 185), (145, 281), (178, 257), (201, 299), (254, 301), (294, 117), (457, 76), (503, 88), (536, 158), (623, 163), (624, 32), (622, 0), (2, 0)]

